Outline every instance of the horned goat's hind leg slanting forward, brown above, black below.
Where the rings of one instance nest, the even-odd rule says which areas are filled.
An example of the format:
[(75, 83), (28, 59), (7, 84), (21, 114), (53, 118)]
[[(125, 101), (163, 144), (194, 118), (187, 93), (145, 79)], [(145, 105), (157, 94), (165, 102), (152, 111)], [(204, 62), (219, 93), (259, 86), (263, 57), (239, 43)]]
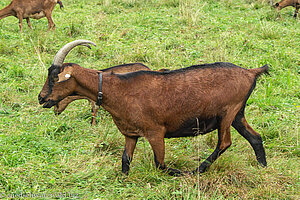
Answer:
[(230, 123), (221, 125), (218, 129), (218, 144), (214, 152), (193, 171), (203, 173), (231, 145)]

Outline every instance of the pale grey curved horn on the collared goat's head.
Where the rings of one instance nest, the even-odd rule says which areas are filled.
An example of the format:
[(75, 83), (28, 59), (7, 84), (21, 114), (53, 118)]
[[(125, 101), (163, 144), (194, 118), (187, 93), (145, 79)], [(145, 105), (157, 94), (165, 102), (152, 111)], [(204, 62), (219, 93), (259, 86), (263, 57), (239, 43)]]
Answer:
[(91, 42), (89, 40), (75, 40), (73, 42), (66, 44), (55, 55), (54, 60), (53, 60), (53, 65), (62, 66), (68, 53), (76, 46), (82, 45), (82, 46), (86, 46), (89, 49), (91, 49), (90, 45), (88, 45), (88, 44), (92, 44), (92, 45), (96, 46), (96, 44), (94, 42)]

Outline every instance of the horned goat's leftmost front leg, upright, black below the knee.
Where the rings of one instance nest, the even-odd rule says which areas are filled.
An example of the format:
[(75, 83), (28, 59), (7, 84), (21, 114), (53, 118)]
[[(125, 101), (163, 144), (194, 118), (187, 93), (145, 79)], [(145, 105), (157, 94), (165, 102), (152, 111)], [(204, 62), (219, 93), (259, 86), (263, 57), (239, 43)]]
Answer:
[(122, 172), (128, 175), (130, 162), (133, 158), (133, 152), (137, 143), (138, 137), (125, 136), (125, 149), (122, 156)]

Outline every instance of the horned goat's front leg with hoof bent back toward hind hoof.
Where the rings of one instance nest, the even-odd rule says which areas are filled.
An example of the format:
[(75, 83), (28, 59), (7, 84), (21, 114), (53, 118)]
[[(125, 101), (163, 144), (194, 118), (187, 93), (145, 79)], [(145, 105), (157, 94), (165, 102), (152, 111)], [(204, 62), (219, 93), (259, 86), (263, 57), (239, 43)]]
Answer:
[(164, 141), (164, 135), (160, 136), (153, 136), (147, 138), (153, 153), (154, 153), (154, 162), (157, 168), (162, 169), (164, 171), (167, 171), (169, 175), (171, 176), (179, 176), (181, 175), (181, 171), (177, 169), (167, 168), (164, 159), (165, 159), (165, 141)]

